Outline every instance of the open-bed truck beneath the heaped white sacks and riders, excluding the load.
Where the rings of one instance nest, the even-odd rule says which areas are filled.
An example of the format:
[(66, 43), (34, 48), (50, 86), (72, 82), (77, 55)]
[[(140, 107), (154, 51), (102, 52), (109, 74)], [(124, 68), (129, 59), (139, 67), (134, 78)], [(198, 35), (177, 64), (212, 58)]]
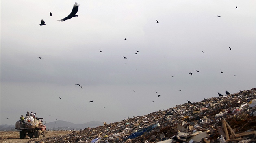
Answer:
[[(41, 120), (41, 122), (45, 122), (42, 120), (43, 118), (38, 118), (38, 120)], [(44, 124), (39, 124), (35, 128), (15, 128), (18, 131), (20, 130), (20, 139), (25, 139), (26, 136), (33, 138), (39, 138), (40, 135), (43, 135), (43, 137), (46, 137), (46, 126)]]

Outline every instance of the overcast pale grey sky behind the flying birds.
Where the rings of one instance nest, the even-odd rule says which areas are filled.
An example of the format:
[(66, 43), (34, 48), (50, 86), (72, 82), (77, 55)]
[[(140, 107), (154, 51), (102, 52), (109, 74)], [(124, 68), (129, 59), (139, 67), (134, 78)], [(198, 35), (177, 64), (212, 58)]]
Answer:
[(255, 0), (1, 0), (0, 124), (119, 122), (249, 90), (255, 40)]

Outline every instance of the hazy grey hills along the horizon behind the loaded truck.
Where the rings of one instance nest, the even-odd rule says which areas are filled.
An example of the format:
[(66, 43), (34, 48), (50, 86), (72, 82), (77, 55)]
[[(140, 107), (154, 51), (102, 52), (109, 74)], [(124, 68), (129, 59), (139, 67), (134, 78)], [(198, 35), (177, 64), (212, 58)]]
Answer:
[[(44, 124), (44, 122), (43, 122)], [(49, 130), (80, 130), (80, 129), (85, 129), (85, 128), (95, 128), (98, 126), (102, 126), (103, 122), (99, 121), (91, 121), (83, 124), (74, 124), (72, 122), (67, 122), (67, 121), (54, 121), (54, 122), (49, 122), (46, 123), (46, 128)], [(9, 130), (15, 130), (15, 125), (0, 125), (0, 131), (9, 131)]]

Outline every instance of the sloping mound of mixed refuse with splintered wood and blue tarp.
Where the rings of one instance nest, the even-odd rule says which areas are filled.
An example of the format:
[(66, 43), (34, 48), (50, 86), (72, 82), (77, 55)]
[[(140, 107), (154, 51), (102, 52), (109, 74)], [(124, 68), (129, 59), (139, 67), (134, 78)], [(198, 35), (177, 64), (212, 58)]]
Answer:
[[(256, 88), (96, 128), (41, 139), (41, 143), (255, 143)], [(35, 141), (35, 140), (34, 140)], [(39, 143), (39, 142), (38, 142)]]

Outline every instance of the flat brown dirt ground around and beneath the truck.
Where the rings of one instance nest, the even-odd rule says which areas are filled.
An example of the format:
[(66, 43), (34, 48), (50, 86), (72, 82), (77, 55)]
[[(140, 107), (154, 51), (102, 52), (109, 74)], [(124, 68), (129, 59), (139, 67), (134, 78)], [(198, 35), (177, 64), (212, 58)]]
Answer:
[[(46, 132), (46, 138), (47, 137), (55, 137), (55, 136), (61, 136), (70, 134), (72, 131), (47, 131)], [(0, 143), (27, 143), (28, 141), (40, 141), (43, 139), (43, 136), (41, 135), (39, 138), (32, 138), (30, 139), (28, 136), (26, 136), (25, 139), (20, 139), (20, 135), (18, 131), (0, 131)]]

